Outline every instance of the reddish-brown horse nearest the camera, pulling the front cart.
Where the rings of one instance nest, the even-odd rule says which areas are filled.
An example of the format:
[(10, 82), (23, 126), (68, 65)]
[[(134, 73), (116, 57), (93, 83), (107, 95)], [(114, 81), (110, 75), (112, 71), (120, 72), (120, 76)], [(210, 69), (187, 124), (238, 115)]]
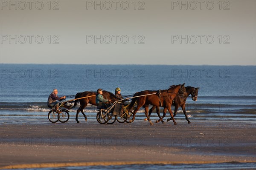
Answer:
[[(185, 83), (184, 83), (185, 84)], [(161, 90), (161, 91), (142, 91), (142, 92), (137, 92), (134, 94), (134, 97), (140, 96), (140, 95), (146, 95), (146, 96), (140, 96), (137, 98), (133, 98), (131, 101), (131, 104), (128, 107), (128, 111), (131, 110), (131, 108), (134, 106), (135, 102), (137, 101), (137, 108), (133, 112), (133, 118), (130, 120), (130, 122), (133, 122), (135, 119), (136, 112), (140, 109), (140, 107), (145, 107), (145, 115), (148, 118), (148, 121), (150, 124), (153, 124), (148, 117), (148, 105), (151, 104), (156, 107), (164, 107), (167, 108), (172, 116), (172, 121), (174, 124), (177, 124), (175, 122), (175, 119), (173, 118), (172, 115), (172, 100), (175, 98), (178, 92), (180, 92), (183, 95), (186, 95), (186, 89), (184, 87), (184, 84), (179, 84), (179, 85), (173, 85), (170, 86), (169, 89), (166, 90)], [(153, 95), (148, 95), (148, 94), (153, 94)], [(160, 118), (159, 121), (161, 121), (166, 115), (166, 112), (164, 112), (163, 117)]]

